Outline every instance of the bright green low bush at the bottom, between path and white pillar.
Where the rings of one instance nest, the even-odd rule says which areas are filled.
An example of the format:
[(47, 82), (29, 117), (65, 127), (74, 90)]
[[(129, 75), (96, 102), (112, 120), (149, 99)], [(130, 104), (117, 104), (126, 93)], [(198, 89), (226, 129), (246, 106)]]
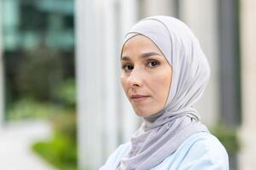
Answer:
[(50, 164), (61, 170), (77, 170), (77, 144), (62, 134), (56, 133), (48, 142), (32, 145), (32, 150)]

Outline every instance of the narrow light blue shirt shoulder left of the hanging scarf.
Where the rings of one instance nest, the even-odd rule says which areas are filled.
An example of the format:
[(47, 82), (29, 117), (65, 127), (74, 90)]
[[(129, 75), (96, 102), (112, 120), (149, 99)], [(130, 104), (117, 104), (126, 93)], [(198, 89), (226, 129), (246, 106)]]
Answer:
[(131, 149), (131, 143), (120, 144), (119, 147), (108, 156), (106, 163), (100, 168), (100, 170), (114, 169), (118, 166), (121, 157), (128, 154)]

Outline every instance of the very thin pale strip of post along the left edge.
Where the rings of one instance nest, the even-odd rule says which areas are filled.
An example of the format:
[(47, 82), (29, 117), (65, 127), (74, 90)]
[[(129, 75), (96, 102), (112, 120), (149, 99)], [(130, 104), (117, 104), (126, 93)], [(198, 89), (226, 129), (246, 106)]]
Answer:
[(4, 120), (4, 91), (3, 91), (3, 6), (0, 1), (0, 127)]

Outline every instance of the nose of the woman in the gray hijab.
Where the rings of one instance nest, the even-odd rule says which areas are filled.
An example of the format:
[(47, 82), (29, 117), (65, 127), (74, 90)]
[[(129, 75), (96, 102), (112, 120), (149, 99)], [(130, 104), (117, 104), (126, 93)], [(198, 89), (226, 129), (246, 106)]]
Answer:
[(130, 76), (128, 77), (128, 82), (131, 88), (139, 88), (143, 85), (143, 75), (142, 71), (133, 68)]

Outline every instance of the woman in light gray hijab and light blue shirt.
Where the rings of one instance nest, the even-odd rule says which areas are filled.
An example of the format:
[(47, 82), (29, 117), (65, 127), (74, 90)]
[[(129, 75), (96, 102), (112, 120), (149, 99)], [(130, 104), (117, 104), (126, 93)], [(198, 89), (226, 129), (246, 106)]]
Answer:
[(122, 86), (143, 124), (101, 170), (229, 169), (224, 146), (193, 108), (210, 68), (188, 26), (168, 16), (139, 21), (125, 36), (120, 62)]

